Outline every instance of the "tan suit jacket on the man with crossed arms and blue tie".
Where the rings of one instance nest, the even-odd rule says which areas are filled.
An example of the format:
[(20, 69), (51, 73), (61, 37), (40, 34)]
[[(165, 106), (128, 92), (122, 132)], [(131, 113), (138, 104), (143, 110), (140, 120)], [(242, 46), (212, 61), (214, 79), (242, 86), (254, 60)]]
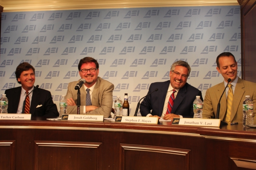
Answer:
[[(68, 91), (65, 98), (72, 97), (77, 104), (77, 90), (75, 85), (80, 80), (68, 83)], [(111, 113), (113, 105), (113, 90), (114, 85), (100, 77), (98, 77), (95, 87), (92, 92), (92, 105), (99, 108), (86, 112), (86, 115), (104, 115), (104, 118), (108, 118)], [(81, 92), (81, 107), (80, 114), (84, 113), (84, 105), (86, 105), (86, 91), (84, 87), (80, 88)], [(68, 106), (68, 114), (77, 114), (77, 106)]]

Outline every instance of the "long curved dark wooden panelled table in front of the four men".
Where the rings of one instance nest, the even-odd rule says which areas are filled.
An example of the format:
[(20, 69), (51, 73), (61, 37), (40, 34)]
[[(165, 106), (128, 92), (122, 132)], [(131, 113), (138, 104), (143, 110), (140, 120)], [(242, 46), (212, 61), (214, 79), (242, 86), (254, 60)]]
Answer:
[(256, 129), (0, 120), (0, 170), (256, 169)]

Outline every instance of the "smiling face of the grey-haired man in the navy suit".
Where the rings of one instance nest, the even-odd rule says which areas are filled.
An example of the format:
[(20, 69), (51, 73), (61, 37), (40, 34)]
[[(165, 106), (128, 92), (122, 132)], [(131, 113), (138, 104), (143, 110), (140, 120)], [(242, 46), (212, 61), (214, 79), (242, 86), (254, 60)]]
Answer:
[[(177, 76), (177, 74), (175, 74), (174, 72), (178, 72), (180, 73), (179, 76)], [(173, 70), (173, 72), (170, 72), (170, 83), (172, 88), (174, 89), (180, 89), (183, 86), (185, 86), (187, 79), (182, 75), (188, 75), (188, 69), (186, 67), (183, 66), (175, 66), (175, 69)]]

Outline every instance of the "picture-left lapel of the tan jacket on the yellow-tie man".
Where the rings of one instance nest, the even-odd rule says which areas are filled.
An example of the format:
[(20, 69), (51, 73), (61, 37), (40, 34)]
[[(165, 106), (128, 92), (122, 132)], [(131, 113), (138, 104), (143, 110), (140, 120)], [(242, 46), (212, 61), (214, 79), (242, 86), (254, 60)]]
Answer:
[[(224, 91), (224, 82), (220, 84), (220, 87), (217, 88), (216, 91), (216, 98), (217, 98), (217, 104), (219, 103), (219, 99), (220, 96), (222, 95), (223, 91)], [(219, 119), (223, 120), (225, 115), (226, 115), (226, 111), (227, 111), (227, 99), (226, 99), (226, 93), (224, 92), (221, 100), (220, 100), (220, 115), (219, 115)], [(215, 113), (216, 115), (216, 113)]]

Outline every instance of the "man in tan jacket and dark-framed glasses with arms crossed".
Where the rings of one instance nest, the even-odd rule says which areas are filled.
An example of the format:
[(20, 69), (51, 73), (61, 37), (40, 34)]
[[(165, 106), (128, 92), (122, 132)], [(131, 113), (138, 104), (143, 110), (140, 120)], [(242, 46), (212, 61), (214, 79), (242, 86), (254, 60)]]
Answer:
[[(85, 57), (78, 64), (79, 75), (85, 79), (84, 85), (80, 88), (81, 91), (81, 106), (80, 114), (87, 115), (104, 115), (104, 118), (110, 117), (113, 105), (113, 90), (114, 85), (102, 78), (98, 77), (99, 64), (92, 57)], [(77, 114), (77, 90), (75, 86), (80, 80), (70, 82), (66, 99), (68, 103), (68, 114)], [(89, 100), (91, 105), (86, 105), (87, 90), (89, 90)], [(86, 107), (85, 107), (86, 106)]]

